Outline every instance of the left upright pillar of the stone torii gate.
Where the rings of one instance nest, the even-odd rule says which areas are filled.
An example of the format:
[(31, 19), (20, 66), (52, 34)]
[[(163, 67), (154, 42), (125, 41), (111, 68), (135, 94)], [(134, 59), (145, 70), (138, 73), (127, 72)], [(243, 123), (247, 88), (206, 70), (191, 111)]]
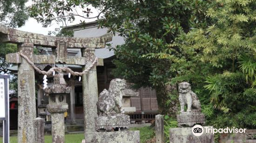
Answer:
[[(33, 44), (18, 45), (18, 52), (33, 61)], [(33, 67), (23, 60), (18, 64), (18, 142), (35, 143), (33, 121), (36, 118), (35, 74)]]

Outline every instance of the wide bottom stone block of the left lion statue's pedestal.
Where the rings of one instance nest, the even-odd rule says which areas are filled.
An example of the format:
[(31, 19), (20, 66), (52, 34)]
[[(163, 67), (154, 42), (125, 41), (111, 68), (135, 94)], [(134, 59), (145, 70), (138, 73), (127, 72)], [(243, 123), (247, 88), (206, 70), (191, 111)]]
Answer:
[(140, 131), (86, 133), (82, 143), (139, 143)]

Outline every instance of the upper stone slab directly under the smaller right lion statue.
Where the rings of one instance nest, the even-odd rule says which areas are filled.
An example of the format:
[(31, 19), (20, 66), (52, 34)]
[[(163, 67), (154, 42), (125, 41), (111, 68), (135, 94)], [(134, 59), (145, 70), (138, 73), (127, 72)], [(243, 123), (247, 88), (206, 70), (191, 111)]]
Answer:
[(178, 127), (193, 127), (196, 124), (205, 125), (205, 116), (203, 113), (182, 112), (177, 115)]

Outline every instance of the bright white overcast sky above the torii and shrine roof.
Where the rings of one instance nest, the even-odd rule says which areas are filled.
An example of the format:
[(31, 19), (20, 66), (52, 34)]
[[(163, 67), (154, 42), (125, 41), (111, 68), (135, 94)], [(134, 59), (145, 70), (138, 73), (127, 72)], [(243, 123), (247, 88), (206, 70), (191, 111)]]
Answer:
[[(29, 1), (26, 5), (30, 6), (31, 5), (31, 1)], [(93, 12), (92, 14), (90, 14), (91, 17), (94, 17), (94, 16), (96, 16), (98, 14), (98, 11), (95, 8), (93, 8), (91, 6), (89, 8), (91, 8), (92, 9), (91, 11)], [(78, 11), (82, 11), (82, 10), (78, 9)], [(81, 19), (81, 18), (77, 17), (74, 22), (68, 23), (68, 26), (79, 24), (80, 20), (82, 20), (82, 21), (85, 20), (86, 22), (90, 22), (90, 21), (95, 21), (96, 18), (94, 18), (94, 19), (84, 19), (84, 18)], [(18, 28), (18, 30), (48, 35), (49, 31), (54, 31), (55, 28), (59, 28), (61, 26), (62, 26), (62, 24), (58, 25), (56, 22), (53, 21), (53, 23), (52, 23), (52, 25), (50, 27), (43, 28), (41, 23), (38, 23), (34, 18), (29, 18), (26, 21), (25, 26), (23, 26), (21, 28)]]

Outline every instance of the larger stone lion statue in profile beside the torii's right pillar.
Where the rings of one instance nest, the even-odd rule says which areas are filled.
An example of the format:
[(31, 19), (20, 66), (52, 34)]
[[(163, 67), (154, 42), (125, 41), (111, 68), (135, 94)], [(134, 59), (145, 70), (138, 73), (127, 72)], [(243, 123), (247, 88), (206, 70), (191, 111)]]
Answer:
[(104, 89), (99, 94), (97, 109), (99, 116), (111, 116), (121, 113), (122, 90), (125, 89), (124, 79), (113, 79), (110, 82), (109, 90)]

